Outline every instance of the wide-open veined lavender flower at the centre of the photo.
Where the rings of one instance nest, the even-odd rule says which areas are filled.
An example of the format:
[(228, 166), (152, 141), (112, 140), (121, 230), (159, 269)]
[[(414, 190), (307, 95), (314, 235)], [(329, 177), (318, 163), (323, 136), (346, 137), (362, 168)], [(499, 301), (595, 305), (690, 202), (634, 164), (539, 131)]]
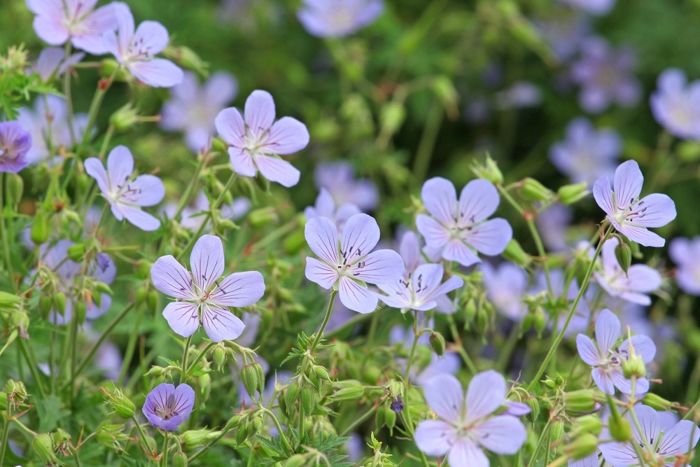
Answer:
[(307, 256), (307, 279), (326, 289), (337, 284), (340, 301), (353, 311), (370, 313), (377, 307), (377, 296), (366, 284), (392, 284), (403, 272), (398, 253), (372, 251), (379, 242), (379, 226), (367, 214), (351, 216), (339, 240), (337, 227), (330, 219), (311, 218), (304, 237), (311, 251), (321, 258)]

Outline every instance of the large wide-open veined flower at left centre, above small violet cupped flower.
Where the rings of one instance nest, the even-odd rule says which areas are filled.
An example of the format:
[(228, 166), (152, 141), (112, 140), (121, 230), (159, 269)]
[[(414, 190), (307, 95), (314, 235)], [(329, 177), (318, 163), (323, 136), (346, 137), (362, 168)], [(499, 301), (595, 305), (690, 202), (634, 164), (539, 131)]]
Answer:
[(190, 254), (192, 272), (172, 255), (161, 256), (151, 268), (153, 285), (174, 297), (163, 316), (182, 337), (193, 335), (200, 324), (213, 342), (233, 340), (245, 327), (229, 307), (247, 307), (262, 298), (265, 281), (258, 271), (235, 272), (221, 279), (223, 244), (214, 235), (202, 235)]

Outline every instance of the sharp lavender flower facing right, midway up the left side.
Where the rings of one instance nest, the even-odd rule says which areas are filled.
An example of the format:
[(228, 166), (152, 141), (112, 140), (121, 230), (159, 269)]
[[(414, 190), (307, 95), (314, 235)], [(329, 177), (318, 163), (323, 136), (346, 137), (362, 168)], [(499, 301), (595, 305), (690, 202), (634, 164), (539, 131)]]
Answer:
[(107, 170), (97, 158), (85, 160), (85, 172), (97, 180), (102, 196), (109, 202), (118, 221), (126, 218), (141, 230), (160, 227), (158, 218), (141, 210), (153, 206), (165, 197), (165, 186), (157, 176), (139, 175), (134, 178), (134, 157), (125, 146), (117, 146), (107, 157)]

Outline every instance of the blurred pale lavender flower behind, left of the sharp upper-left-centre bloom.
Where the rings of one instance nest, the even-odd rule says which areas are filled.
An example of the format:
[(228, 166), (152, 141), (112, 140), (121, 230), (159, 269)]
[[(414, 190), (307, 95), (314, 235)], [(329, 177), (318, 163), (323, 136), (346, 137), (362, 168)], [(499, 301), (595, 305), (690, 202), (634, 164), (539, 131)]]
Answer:
[(214, 119), (237, 92), (238, 83), (225, 71), (212, 74), (202, 86), (195, 73), (186, 71), (182, 83), (172, 88), (172, 98), (163, 104), (160, 127), (185, 132), (187, 146), (198, 152), (216, 134)]

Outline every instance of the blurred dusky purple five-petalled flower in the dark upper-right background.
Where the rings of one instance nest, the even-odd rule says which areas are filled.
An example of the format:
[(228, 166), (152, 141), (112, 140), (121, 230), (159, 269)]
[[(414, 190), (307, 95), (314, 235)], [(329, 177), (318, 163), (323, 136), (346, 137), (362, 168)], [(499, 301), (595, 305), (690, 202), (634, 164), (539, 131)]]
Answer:
[(579, 104), (591, 113), (600, 113), (618, 104), (630, 107), (641, 95), (634, 78), (634, 55), (630, 50), (612, 50), (600, 37), (591, 37), (581, 47), (582, 57), (571, 67), (571, 78), (581, 86)]

